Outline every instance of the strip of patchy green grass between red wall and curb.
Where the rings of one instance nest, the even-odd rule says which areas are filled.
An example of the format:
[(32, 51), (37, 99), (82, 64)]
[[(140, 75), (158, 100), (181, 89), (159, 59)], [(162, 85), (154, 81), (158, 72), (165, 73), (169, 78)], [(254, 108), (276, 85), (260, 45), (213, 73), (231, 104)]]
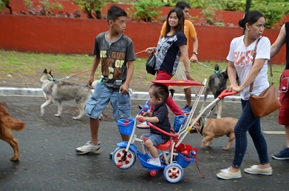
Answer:
[[(11, 75), (20, 75), (23, 77), (35, 77), (39, 79), (45, 68), (51, 69), (52, 74), (65, 77), (70, 74), (82, 72), (91, 69), (92, 55), (66, 55), (66, 54), (45, 54), (45, 53), (23, 53), (17, 51), (0, 51), (0, 79), (2, 77)], [(133, 80), (142, 80), (149, 83), (154, 80), (154, 76), (147, 74), (145, 71), (146, 59), (137, 58), (135, 60), (135, 71)], [(214, 65), (218, 63), (221, 70), (225, 70), (227, 62), (202, 62), (201, 64), (192, 62), (191, 70), (192, 77), (197, 81), (203, 81), (214, 74)], [(284, 70), (284, 65), (272, 65), (273, 80), (278, 84), (279, 77)], [(100, 70), (97, 70), (95, 78), (98, 78)], [(82, 74), (80, 77), (87, 80), (88, 74)], [(269, 78), (270, 79), (270, 78)]]

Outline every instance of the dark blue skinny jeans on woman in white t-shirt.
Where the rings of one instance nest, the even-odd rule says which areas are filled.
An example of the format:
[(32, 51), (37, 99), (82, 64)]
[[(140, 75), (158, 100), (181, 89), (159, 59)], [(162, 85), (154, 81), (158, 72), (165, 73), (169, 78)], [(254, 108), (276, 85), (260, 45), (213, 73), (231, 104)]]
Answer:
[(232, 166), (240, 168), (247, 150), (247, 131), (256, 147), (260, 164), (269, 163), (266, 140), (261, 131), (260, 118), (254, 117), (249, 100), (242, 100), (242, 114), (235, 126), (235, 156)]

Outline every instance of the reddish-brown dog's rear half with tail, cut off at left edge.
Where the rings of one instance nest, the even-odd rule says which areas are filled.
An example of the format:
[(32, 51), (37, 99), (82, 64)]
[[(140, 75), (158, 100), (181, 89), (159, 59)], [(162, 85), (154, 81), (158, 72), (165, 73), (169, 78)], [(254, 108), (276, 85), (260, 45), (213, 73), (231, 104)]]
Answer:
[(20, 158), (18, 142), (16, 138), (13, 137), (11, 129), (20, 131), (24, 126), (25, 123), (23, 121), (16, 121), (13, 119), (4, 105), (0, 104), (0, 138), (13, 148), (14, 154), (13, 157), (11, 157), (11, 161), (18, 161)]

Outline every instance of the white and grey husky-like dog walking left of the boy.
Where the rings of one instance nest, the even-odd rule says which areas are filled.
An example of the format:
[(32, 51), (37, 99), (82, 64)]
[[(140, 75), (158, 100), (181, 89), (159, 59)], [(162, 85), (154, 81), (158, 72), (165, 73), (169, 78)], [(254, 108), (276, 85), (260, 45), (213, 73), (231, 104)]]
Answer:
[(62, 102), (68, 100), (75, 100), (80, 114), (73, 119), (81, 119), (85, 114), (85, 105), (87, 100), (92, 95), (92, 90), (80, 84), (70, 83), (67, 81), (54, 81), (51, 71), (47, 72), (45, 69), (40, 83), (43, 93), (47, 101), (41, 105), (41, 114), (44, 115), (44, 107), (51, 105), (56, 100), (58, 102), (58, 112), (54, 114), (56, 117), (61, 116)]

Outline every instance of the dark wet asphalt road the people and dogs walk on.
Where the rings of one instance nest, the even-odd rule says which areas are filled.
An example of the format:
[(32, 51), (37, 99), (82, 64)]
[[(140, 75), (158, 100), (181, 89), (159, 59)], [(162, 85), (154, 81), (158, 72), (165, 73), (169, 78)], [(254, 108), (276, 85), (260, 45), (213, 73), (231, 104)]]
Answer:
[[(205, 178), (202, 178), (196, 163), (187, 166), (183, 179), (174, 184), (166, 181), (162, 171), (155, 177), (149, 176), (138, 159), (130, 169), (118, 169), (109, 159), (109, 153), (121, 141), (116, 122), (111, 117), (110, 105), (104, 112), (99, 129), (102, 152), (77, 155), (75, 148), (90, 140), (88, 117), (80, 121), (72, 119), (78, 114), (73, 101), (63, 103), (62, 117), (54, 117), (56, 104), (47, 107), (46, 114), (41, 117), (40, 105), (44, 101), (43, 95), (34, 93), (0, 93), (0, 102), (6, 103), (11, 116), (26, 123), (23, 131), (13, 131), (20, 148), (19, 162), (9, 160), (13, 150), (1, 141), (0, 190), (288, 190), (289, 160), (271, 159), (272, 176), (251, 175), (242, 171), (240, 179), (217, 178), (216, 173), (227, 168), (233, 159), (234, 145), (228, 151), (221, 149), (227, 143), (226, 137), (215, 138), (211, 147), (203, 149), (199, 147), (202, 140), (199, 134), (189, 133), (183, 140), (183, 143), (199, 148), (197, 164)], [(133, 98), (133, 117), (139, 111), (137, 106), (144, 102), (142, 98)], [(178, 100), (177, 103), (180, 107), (185, 105), (183, 101)], [(238, 118), (240, 111), (238, 101), (225, 100), (223, 117)], [(208, 112), (204, 113), (204, 117)], [(212, 112), (209, 117), (216, 116)], [(262, 118), (262, 130), (271, 131), (264, 133), (270, 156), (279, 152), (285, 144), (285, 136), (282, 134), (284, 129), (278, 125), (277, 119), (278, 112)], [(137, 136), (144, 131), (147, 130), (137, 129)], [(248, 138), (247, 152), (241, 167), (245, 169), (258, 162), (257, 152), (252, 140)]]

